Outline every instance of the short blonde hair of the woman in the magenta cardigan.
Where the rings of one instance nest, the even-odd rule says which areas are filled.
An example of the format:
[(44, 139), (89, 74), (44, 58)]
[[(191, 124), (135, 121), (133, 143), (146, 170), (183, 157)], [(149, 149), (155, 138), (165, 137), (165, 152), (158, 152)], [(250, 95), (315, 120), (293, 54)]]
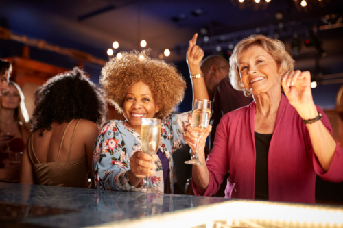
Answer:
[(252, 94), (244, 87), (239, 75), (238, 60), (241, 55), (252, 45), (263, 47), (274, 58), (279, 66), (279, 73), (293, 71), (294, 60), (286, 51), (285, 45), (280, 40), (268, 38), (263, 35), (251, 35), (239, 41), (230, 57), (230, 81), (236, 90), (243, 91), (246, 97), (252, 97)]

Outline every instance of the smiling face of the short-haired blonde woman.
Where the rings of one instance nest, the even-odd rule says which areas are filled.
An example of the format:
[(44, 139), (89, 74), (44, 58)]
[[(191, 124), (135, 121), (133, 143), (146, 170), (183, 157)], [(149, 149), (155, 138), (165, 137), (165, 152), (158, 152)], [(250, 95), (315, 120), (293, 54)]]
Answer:
[(238, 61), (239, 74), (244, 87), (253, 95), (271, 90), (280, 90), (279, 66), (263, 47), (252, 45)]

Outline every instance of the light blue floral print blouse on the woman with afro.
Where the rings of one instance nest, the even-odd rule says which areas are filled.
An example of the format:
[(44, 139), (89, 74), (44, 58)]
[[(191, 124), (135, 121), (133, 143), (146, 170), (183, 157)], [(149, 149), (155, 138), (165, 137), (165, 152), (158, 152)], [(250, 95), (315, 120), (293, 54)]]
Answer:
[[(170, 191), (173, 193), (172, 153), (185, 144), (182, 138), (184, 126), (187, 124), (189, 112), (173, 114), (161, 121), (161, 142), (158, 147), (168, 160)], [(95, 141), (93, 153), (93, 173), (95, 186), (101, 189), (118, 191), (137, 191), (143, 181), (134, 188), (128, 180), (130, 157), (141, 151), (141, 136), (126, 121), (108, 121)], [(150, 177), (154, 188), (164, 192), (163, 166), (157, 157), (154, 177)]]

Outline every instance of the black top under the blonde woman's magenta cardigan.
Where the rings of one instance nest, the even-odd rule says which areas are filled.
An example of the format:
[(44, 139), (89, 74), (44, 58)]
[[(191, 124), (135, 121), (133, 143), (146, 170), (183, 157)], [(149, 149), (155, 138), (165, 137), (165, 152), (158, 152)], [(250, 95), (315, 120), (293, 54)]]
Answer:
[(255, 132), (255, 199), (268, 200), (268, 151), (272, 136)]

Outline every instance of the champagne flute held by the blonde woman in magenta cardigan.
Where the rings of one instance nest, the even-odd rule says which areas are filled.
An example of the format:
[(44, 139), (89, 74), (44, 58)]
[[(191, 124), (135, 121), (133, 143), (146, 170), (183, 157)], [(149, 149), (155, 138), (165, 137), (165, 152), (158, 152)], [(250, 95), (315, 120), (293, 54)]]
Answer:
[(198, 134), (198, 142), (196, 142), (196, 153), (191, 157), (191, 160), (186, 161), (186, 164), (204, 166), (205, 164), (200, 162), (198, 157), (199, 141), (202, 135), (206, 132), (209, 126), (211, 116), (211, 101), (205, 99), (196, 99), (196, 103), (193, 107), (192, 115), (192, 128)]

